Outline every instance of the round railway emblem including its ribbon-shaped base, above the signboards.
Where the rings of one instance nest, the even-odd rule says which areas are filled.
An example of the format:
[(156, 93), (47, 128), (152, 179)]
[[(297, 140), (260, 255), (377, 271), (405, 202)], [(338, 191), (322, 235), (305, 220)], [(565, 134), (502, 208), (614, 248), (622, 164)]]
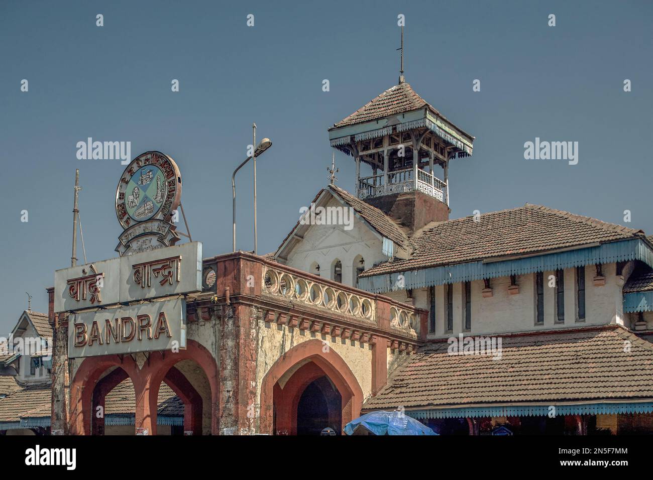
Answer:
[(174, 245), (170, 223), (182, 195), (182, 176), (172, 158), (161, 152), (138, 155), (125, 168), (116, 191), (116, 215), (125, 231), (116, 251), (122, 256)]

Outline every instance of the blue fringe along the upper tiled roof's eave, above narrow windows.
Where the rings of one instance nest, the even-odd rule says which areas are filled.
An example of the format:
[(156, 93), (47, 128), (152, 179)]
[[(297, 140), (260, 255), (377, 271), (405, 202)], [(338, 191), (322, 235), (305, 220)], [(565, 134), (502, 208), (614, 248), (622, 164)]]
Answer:
[(596, 247), (579, 248), (515, 260), (484, 263), (475, 261), (420, 268), (358, 279), (358, 288), (372, 293), (418, 289), (461, 281), (550, 272), (599, 263), (639, 260), (653, 267), (653, 251), (639, 238), (610, 242)]

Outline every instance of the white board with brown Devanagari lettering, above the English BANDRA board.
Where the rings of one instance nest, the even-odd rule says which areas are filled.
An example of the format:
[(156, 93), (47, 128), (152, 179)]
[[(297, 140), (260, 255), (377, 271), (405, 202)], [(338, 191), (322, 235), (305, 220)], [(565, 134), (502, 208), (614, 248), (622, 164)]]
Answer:
[(202, 290), (202, 244), (189, 242), (54, 272), (54, 312)]

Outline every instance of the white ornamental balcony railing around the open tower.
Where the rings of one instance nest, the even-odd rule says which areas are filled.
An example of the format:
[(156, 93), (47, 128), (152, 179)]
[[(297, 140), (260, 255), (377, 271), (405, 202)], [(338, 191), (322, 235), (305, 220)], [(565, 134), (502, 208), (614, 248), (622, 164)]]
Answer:
[[(417, 172), (417, 176), (415, 175)], [(421, 168), (406, 168), (388, 173), (387, 183), (383, 173), (358, 178), (358, 198), (361, 200), (419, 190), (447, 203), (447, 184)]]

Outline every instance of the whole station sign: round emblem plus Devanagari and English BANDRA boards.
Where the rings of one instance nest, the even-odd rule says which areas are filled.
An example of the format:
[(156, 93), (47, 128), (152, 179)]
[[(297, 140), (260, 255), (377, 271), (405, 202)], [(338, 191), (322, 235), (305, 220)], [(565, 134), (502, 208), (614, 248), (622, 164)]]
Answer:
[(181, 194), (168, 155), (138, 155), (116, 190), (120, 256), (54, 272), (54, 312), (70, 313), (70, 358), (185, 349), (183, 296), (202, 291), (202, 244), (175, 245)]

